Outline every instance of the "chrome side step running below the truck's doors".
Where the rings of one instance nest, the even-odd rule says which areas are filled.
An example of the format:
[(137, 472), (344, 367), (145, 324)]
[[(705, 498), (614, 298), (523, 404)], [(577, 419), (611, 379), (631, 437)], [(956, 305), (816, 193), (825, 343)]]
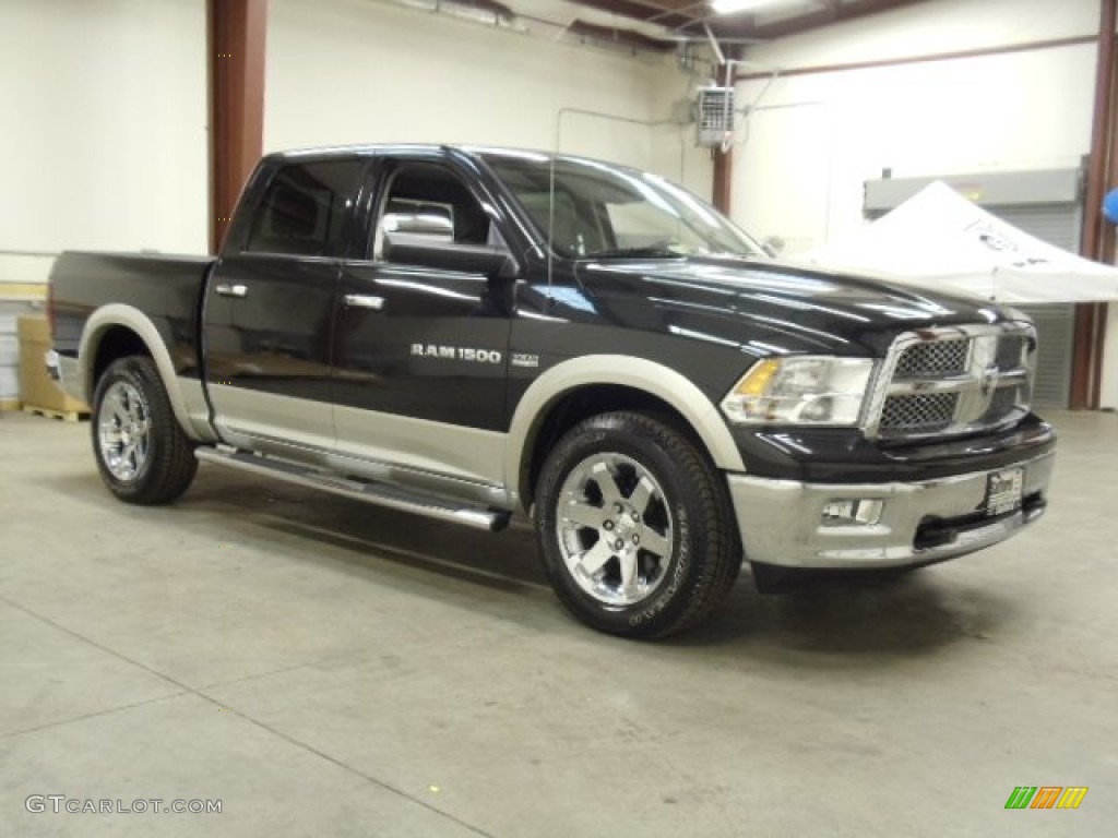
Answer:
[(474, 530), (498, 532), (509, 525), (511, 517), (508, 512), (493, 512), (467, 506), (435, 495), (410, 492), (383, 483), (351, 479), (245, 451), (200, 447), (195, 449), (195, 457), (202, 463), (216, 463), (219, 466), (239, 468), (243, 472), (266, 475), (278, 480), (330, 492), (354, 501), (411, 512), (439, 521), (449, 521), (453, 524), (462, 524)]

